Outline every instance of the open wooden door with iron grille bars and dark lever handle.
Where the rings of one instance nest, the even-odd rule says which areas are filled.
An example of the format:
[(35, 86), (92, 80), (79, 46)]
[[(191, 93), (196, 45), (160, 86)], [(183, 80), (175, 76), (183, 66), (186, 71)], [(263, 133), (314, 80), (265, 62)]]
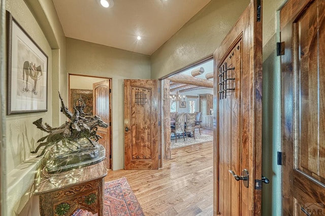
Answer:
[(260, 215), (262, 2), (252, 0), (214, 53), (214, 214)]

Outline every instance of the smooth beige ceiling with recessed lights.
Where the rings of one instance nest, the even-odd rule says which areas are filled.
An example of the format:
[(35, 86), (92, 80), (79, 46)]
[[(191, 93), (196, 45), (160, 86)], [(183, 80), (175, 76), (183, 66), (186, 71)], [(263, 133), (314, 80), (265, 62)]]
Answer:
[(151, 55), (211, 0), (52, 1), (67, 37)]

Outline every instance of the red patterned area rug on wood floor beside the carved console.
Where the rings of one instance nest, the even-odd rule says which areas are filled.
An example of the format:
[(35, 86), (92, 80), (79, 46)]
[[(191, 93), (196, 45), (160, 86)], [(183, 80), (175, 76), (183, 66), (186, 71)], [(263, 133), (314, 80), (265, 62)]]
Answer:
[[(72, 216), (90, 216), (86, 210), (78, 209)], [(104, 191), (105, 216), (138, 216), (144, 215), (136, 195), (133, 193), (125, 177), (105, 183)]]

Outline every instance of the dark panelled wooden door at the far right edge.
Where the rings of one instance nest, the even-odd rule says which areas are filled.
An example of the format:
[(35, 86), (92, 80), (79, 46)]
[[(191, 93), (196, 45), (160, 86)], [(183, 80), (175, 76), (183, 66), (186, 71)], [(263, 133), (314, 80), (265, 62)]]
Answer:
[(325, 214), (325, 1), (281, 9), (283, 215)]

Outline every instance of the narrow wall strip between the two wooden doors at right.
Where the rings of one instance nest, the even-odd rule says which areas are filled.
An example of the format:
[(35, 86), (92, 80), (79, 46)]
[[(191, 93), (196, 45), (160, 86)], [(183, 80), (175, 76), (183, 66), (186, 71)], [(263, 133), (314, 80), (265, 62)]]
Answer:
[(278, 10), (286, 0), (263, 1), (263, 175), (270, 180), (263, 186), (262, 215), (281, 215), (281, 151), (280, 57), (276, 55), (279, 37)]

